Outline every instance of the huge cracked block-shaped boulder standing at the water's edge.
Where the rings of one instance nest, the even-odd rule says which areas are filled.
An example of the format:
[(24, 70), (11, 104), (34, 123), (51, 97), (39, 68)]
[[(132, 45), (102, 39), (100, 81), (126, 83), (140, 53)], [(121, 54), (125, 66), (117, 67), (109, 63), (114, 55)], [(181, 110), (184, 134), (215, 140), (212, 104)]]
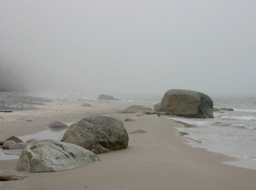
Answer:
[(212, 106), (211, 98), (201, 92), (171, 89), (165, 92), (160, 110), (182, 117), (213, 118)]

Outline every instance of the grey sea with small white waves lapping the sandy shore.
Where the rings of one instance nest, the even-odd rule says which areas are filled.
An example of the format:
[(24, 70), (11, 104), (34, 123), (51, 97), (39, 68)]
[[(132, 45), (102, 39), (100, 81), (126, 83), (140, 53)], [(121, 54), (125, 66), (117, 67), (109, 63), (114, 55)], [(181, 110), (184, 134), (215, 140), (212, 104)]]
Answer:
[[(69, 94), (57, 96), (37, 93), (30, 94), (48, 98), (83, 98), (97, 100), (98, 96), (84, 94)], [(161, 101), (163, 95), (116, 95), (123, 101), (143, 102), (152, 105)], [(256, 170), (256, 95), (214, 95), (214, 108), (232, 108), (233, 111), (220, 110), (213, 112), (214, 118), (199, 119), (178, 116), (162, 116), (182, 123), (176, 128), (177, 134), (186, 139), (186, 143), (193, 148), (221, 153), (235, 157), (237, 161), (226, 162), (237, 167)], [(62, 132), (63, 133), (63, 132)]]

